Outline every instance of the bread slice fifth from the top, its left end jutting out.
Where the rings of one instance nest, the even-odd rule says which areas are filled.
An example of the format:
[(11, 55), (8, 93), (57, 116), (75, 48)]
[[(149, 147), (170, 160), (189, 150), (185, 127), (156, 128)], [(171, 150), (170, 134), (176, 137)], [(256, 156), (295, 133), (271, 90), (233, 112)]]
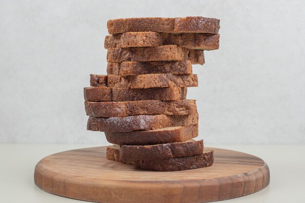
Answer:
[(105, 83), (108, 87), (131, 89), (197, 87), (198, 77), (196, 74), (90, 75), (91, 86), (105, 87)]

